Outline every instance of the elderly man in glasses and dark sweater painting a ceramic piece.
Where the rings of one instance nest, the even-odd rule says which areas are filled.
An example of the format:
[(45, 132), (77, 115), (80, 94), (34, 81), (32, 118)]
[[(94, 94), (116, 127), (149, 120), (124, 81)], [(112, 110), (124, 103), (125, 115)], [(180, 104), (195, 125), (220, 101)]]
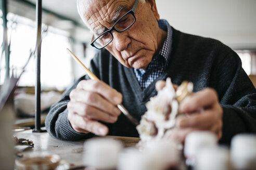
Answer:
[[(155, 0), (78, 0), (92, 30), (91, 45), (101, 49), (91, 61), (101, 80), (81, 77), (49, 111), (47, 131), (78, 140), (98, 135), (138, 137), (121, 111), (138, 120), (145, 103), (167, 77), (174, 84), (194, 83), (181, 105), (173, 137), (184, 141), (195, 130), (215, 133), (229, 144), (237, 133), (256, 132), (256, 91), (238, 55), (220, 41), (189, 35), (160, 20)], [(199, 110), (204, 109), (203, 114)], [(184, 114), (185, 115), (185, 114)]]

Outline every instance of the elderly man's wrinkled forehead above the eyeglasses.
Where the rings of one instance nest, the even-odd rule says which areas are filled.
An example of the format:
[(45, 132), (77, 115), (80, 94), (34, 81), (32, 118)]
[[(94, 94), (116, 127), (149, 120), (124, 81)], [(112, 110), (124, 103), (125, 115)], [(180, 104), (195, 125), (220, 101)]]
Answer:
[(78, 0), (80, 17), (99, 35), (108, 30), (121, 14), (132, 9), (133, 0)]

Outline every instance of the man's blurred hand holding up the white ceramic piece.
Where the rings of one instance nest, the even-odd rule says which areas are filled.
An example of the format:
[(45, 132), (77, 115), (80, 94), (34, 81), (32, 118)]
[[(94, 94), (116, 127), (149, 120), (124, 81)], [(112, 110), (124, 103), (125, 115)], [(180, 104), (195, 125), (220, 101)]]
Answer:
[[(163, 81), (156, 84), (156, 89), (164, 87)], [(214, 89), (205, 88), (191, 94), (180, 105), (183, 114), (177, 117), (173, 138), (184, 142), (192, 131), (211, 131), (220, 139), (222, 137), (223, 109)]]

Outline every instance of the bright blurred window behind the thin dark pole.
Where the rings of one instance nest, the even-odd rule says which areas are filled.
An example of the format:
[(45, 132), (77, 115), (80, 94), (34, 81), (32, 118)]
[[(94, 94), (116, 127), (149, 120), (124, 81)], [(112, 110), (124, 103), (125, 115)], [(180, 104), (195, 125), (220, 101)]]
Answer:
[[(20, 74), (21, 68), (28, 60), (30, 49), (34, 50), (36, 42), (35, 22), (24, 17), (8, 13), (8, 39), (11, 35), (10, 45), (10, 69), (14, 69), (16, 74)], [(12, 21), (17, 24), (12, 24)], [(3, 21), (0, 26), (0, 41), (3, 40)], [(42, 30), (45, 25), (42, 25)], [(41, 50), (41, 86), (42, 89), (57, 88), (63, 90), (72, 81), (71, 58), (66, 48), (70, 48), (69, 33), (48, 27), (48, 31), (43, 35)], [(18, 85), (34, 86), (35, 84), (35, 59), (29, 62), (25, 73), (23, 73)], [(5, 56), (1, 62), (2, 84), (5, 77)]]

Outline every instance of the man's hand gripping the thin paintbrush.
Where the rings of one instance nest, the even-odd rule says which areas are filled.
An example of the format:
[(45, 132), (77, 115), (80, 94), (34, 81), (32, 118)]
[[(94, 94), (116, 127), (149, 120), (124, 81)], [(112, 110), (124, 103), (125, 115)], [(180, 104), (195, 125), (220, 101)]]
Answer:
[(82, 80), (70, 93), (68, 120), (79, 133), (107, 135), (108, 127), (98, 121), (114, 123), (121, 111), (122, 94), (99, 80)]

